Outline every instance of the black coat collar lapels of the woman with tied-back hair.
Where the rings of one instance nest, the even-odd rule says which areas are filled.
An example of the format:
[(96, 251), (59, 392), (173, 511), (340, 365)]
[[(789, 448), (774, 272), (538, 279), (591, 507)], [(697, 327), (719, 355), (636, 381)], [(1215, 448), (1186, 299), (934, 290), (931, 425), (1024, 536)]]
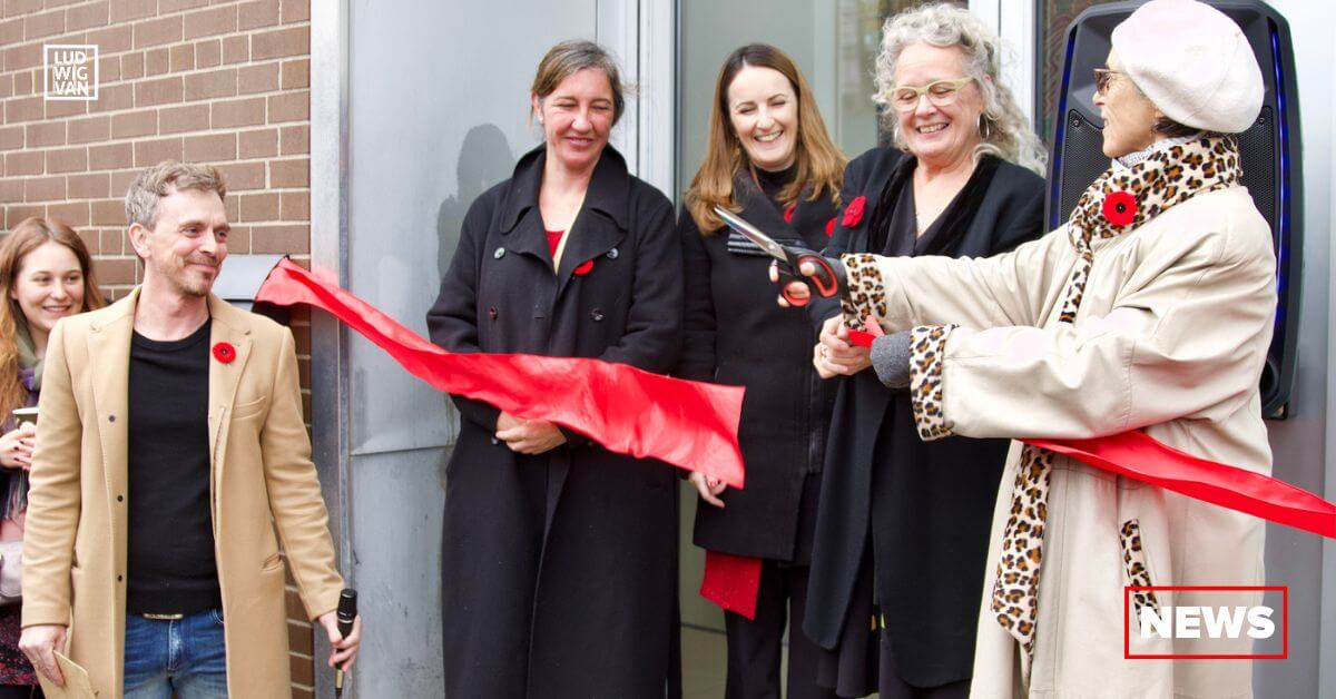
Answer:
[[(538, 190), (542, 187), (542, 167), (548, 162), (548, 148), (540, 144), (524, 154), (514, 166), (510, 188), (501, 204), (501, 234), (514, 230), (524, 213), (538, 206)], [(627, 160), (612, 146), (604, 146), (603, 155), (593, 168), (584, 206), (592, 211), (607, 214), (619, 229), (629, 225), (631, 178), (627, 176)]]

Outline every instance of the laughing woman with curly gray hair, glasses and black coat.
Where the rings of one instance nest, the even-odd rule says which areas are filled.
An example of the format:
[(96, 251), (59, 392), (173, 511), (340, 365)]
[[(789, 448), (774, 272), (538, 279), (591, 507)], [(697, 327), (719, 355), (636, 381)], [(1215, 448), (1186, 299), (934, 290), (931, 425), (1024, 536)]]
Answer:
[[(950, 4), (887, 20), (874, 99), (894, 146), (844, 171), (828, 254), (989, 257), (1043, 233), (1043, 148), (999, 55)], [(850, 343), (838, 302), (811, 309), (818, 372), (839, 377), (804, 620), (832, 651), (822, 682), (842, 696), (965, 696), (1007, 442), (921, 441), (908, 392)]]

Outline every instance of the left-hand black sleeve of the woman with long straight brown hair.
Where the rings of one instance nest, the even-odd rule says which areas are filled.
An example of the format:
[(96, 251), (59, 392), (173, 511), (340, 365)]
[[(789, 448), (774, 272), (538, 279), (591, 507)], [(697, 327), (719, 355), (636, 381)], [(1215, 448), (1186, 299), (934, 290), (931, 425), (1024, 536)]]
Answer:
[(685, 206), (677, 214), (677, 238), (681, 242), (684, 303), (681, 360), (673, 373), (695, 381), (713, 381), (717, 322), (711, 261), (700, 229)]

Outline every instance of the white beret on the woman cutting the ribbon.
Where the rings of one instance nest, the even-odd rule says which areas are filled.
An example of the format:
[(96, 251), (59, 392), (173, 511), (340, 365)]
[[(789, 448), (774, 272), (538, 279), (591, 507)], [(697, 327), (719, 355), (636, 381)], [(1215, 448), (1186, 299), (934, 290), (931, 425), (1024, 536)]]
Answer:
[(1197, 0), (1150, 0), (1113, 29), (1132, 82), (1165, 116), (1221, 134), (1261, 110), (1261, 68), (1234, 20)]

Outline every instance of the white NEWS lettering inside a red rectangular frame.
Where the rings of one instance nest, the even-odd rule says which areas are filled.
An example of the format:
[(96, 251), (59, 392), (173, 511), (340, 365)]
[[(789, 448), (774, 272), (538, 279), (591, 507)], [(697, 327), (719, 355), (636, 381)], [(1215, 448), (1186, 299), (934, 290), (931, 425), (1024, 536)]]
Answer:
[[(1157, 596), (1165, 591), (1173, 595)], [(1178, 592), (1190, 592), (1190, 601)], [(1280, 592), (1280, 609), (1263, 600), (1265, 592)], [(1260, 600), (1240, 604), (1241, 596)], [(1174, 604), (1133, 604), (1133, 597), (1173, 599)], [(1181, 604), (1180, 604), (1181, 601)], [(1122, 588), (1122, 656), (1129, 660), (1283, 660), (1289, 658), (1289, 588), (1284, 585), (1128, 585)], [(1264, 642), (1281, 638), (1279, 654), (1236, 652), (1238, 642)], [(1192, 654), (1138, 654), (1133, 652), (1133, 639), (1192, 640)], [(1220, 642), (1220, 652), (1212, 652), (1212, 642)], [(1177, 647), (1177, 646), (1176, 646)]]

